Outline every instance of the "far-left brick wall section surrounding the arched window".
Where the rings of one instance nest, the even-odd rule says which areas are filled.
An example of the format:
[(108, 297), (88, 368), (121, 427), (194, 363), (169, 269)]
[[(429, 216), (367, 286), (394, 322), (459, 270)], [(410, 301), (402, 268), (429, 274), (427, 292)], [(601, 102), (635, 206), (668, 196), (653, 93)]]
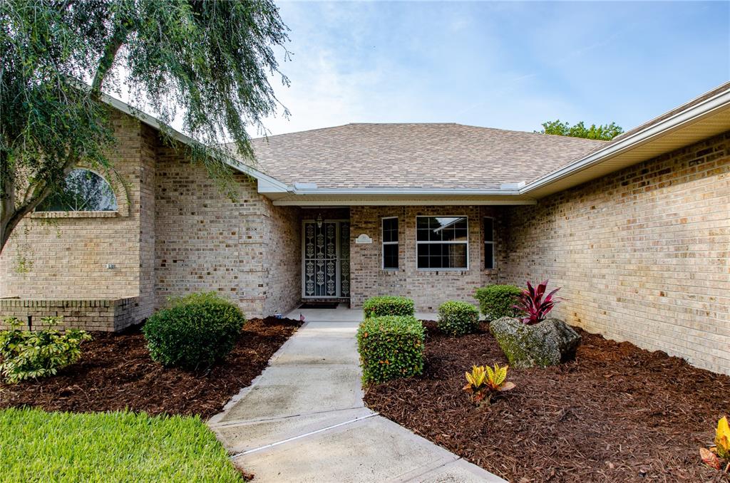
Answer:
[(101, 174), (115, 190), (118, 212), (26, 217), (0, 255), (0, 297), (114, 300), (139, 295), (141, 131), (139, 121), (120, 112), (112, 112), (112, 123), (118, 144), (108, 156), (117, 174)]

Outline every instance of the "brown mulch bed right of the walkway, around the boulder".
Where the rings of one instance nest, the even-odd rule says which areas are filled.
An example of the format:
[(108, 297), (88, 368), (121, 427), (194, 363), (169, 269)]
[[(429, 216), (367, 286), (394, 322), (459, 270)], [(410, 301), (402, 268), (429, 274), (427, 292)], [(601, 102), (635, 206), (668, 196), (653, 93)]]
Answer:
[(366, 390), (374, 411), (510, 482), (730, 482), (699, 447), (730, 413), (730, 376), (580, 331), (576, 360), (510, 369), (517, 388), (476, 407), (475, 363), (507, 363), (486, 325), (454, 338), (427, 330), (421, 376)]

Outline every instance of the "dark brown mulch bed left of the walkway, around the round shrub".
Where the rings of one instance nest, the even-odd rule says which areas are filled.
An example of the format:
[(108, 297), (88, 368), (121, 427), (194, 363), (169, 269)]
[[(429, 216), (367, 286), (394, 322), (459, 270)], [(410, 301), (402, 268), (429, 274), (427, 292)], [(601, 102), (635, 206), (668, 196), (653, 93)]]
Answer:
[(261, 374), (299, 325), (297, 320), (274, 317), (249, 320), (226, 360), (201, 374), (155, 363), (139, 328), (126, 333), (92, 333), (93, 340), (82, 346), (82, 359), (56, 376), (17, 385), (0, 383), (0, 409), (129, 409), (148, 414), (199, 414), (206, 419)]

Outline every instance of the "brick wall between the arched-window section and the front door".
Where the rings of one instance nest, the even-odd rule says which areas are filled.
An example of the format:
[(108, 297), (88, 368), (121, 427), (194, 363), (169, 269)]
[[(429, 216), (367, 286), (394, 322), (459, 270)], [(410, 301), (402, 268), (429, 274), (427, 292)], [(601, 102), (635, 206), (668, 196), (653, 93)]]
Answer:
[(299, 303), (299, 217), (272, 206), (256, 183), (235, 175), (237, 201), (201, 166), (158, 147), (155, 171), (155, 295), (215, 290), (249, 317)]

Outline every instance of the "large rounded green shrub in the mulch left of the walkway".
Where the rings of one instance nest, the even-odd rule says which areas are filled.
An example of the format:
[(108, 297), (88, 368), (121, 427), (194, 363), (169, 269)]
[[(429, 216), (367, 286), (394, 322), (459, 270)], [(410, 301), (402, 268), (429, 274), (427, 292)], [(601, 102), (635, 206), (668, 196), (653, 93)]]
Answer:
[(147, 319), (142, 333), (153, 360), (168, 367), (207, 369), (226, 358), (246, 321), (236, 305), (215, 292), (173, 299)]

